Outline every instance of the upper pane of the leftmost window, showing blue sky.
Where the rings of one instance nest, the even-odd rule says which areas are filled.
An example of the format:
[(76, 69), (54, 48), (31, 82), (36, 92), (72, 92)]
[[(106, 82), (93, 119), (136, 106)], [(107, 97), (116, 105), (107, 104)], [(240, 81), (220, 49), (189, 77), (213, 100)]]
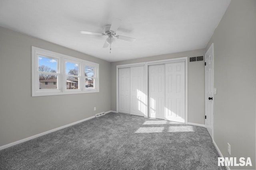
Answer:
[(38, 71), (57, 72), (57, 60), (38, 56)]

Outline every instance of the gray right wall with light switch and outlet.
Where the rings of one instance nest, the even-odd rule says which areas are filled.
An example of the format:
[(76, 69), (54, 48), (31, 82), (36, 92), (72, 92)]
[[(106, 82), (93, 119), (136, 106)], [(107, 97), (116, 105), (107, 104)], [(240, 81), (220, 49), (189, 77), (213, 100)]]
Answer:
[(214, 141), (224, 157), (250, 157), (254, 165), (231, 169), (255, 169), (256, 0), (232, 0), (206, 50), (212, 43)]

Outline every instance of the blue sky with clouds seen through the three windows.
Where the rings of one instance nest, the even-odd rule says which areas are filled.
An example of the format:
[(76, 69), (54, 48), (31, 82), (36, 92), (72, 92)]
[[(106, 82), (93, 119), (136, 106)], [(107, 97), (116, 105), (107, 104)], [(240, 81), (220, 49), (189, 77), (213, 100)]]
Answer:
[[(53, 70), (57, 71), (57, 61), (54, 59), (49, 59), (46, 57), (38, 56), (38, 66), (48, 66), (52, 68)], [(69, 70), (72, 69), (78, 69), (78, 64), (76, 63), (70, 63), (66, 62), (66, 74), (68, 74)], [(84, 72), (87, 74), (87, 76), (92, 77), (94, 73), (94, 68), (91, 66), (84, 66)]]

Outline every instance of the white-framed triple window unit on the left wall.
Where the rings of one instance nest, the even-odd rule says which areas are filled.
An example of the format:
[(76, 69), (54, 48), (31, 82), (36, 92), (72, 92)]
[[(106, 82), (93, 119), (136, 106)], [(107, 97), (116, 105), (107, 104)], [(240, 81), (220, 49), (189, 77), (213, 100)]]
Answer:
[(99, 64), (32, 47), (32, 96), (99, 92)]

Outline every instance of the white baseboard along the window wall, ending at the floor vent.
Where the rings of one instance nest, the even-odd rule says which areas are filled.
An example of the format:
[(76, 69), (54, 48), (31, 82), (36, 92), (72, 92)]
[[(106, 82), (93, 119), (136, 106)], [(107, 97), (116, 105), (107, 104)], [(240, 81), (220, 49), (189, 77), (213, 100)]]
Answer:
[(9, 144), (7, 144), (7, 145), (3, 145), (3, 146), (0, 147), (0, 150), (6, 149), (6, 148), (8, 148), (8, 147), (12, 147), (12, 146), (17, 145), (17, 144), (19, 144), (19, 143), (23, 143), (23, 142), (29, 141), (29, 140), (31, 140), (31, 139), (35, 139), (35, 138), (37, 138), (37, 137), (46, 135), (46, 134), (48, 134), (48, 133), (52, 133), (52, 132), (54, 132), (54, 131), (58, 131), (58, 130), (60, 130), (60, 129), (64, 129), (64, 128), (66, 128), (66, 127), (75, 125), (75, 124), (77, 124), (77, 123), (81, 123), (81, 122), (83, 122), (83, 121), (87, 121), (87, 120), (92, 119), (92, 118), (94, 118), (94, 117), (95, 117), (95, 116), (88, 117), (88, 118), (86, 118), (86, 119), (82, 119), (82, 120), (80, 120), (80, 121), (76, 121), (76, 122), (70, 123), (70, 124), (68, 124), (68, 125), (64, 125), (64, 126), (61, 126), (61, 127), (57, 127), (57, 128), (52, 129), (52, 130), (50, 130), (50, 131), (46, 131), (46, 132), (43, 132), (43, 133), (39, 133), (39, 134), (37, 134), (37, 135), (31, 136), (31, 137), (27, 137), (27, 138), (21, 139), (21, 140), (19, 140), (19, 141), (15, 141), (15, 142), (9, 143)]

